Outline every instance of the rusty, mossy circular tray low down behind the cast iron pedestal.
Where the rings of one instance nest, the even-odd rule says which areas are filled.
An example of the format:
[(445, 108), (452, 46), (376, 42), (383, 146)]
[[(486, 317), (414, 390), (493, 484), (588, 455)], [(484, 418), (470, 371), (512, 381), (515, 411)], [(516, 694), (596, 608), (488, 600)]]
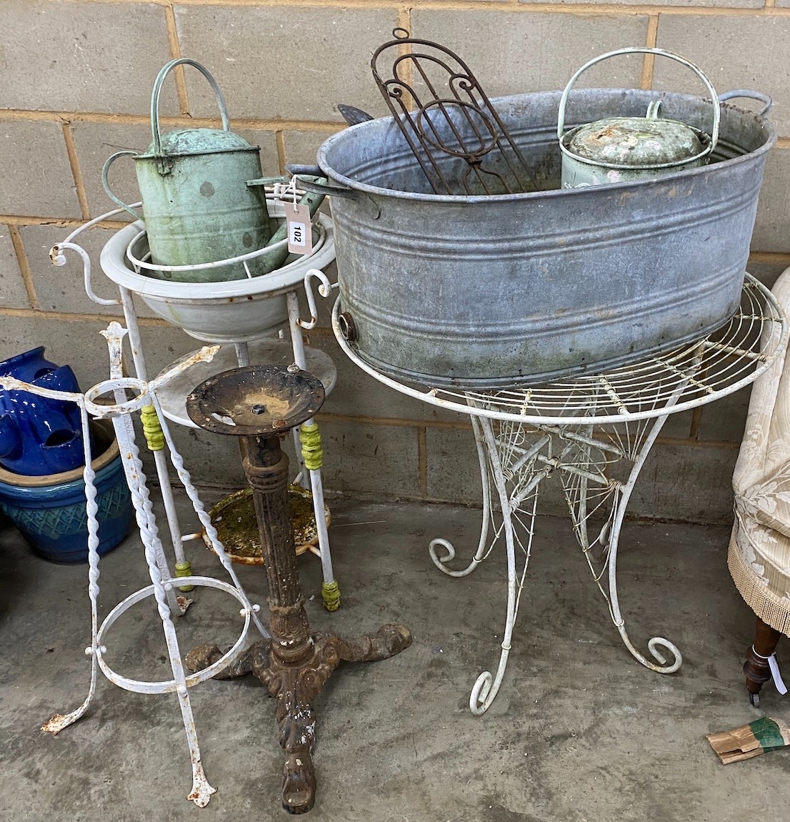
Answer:
[[(296, 555), (307, 551), (318, 553), (318, 530), (315, 527), (313, 512), (313, 495), (304, 488), (291, 485), (288, 487), (288, 506), (291, 511), (293, 541)], [(324, 505), (327, 527), (332, 518), (328, 506)], [(209, 511), (211, 524), (217, 529), (219, 541), (223, 543), (228, 556), (239, 565), (263, 565), (261, 556), (258, 521), (255, 519), (255, 507), (252, 502), (252, 490), (242, 488), (222, 500)], [(208, 535), (203, 529), (201, 536), (204, 543), (213, 551)]]

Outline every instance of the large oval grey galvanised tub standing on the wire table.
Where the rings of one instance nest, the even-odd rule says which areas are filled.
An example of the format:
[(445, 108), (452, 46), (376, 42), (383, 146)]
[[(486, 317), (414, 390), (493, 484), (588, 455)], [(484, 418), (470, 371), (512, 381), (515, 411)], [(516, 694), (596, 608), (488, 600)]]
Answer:
[[(771, 124), (722, 104), (711, 164), (563, 190), (559, 98), (493, 101), (538, 191), (431, 193), (392, 118), (321, 146), (320, 168), (350, 190), (332, 197), (340, 309), (371, 365), (432, 386), (529, 385), (636, 361), (732, 316)], [(710, 100), (590, 89), (572, 92), (567, 126), (641, 116), (653, 99), (668, 118), (710, 122)]]

